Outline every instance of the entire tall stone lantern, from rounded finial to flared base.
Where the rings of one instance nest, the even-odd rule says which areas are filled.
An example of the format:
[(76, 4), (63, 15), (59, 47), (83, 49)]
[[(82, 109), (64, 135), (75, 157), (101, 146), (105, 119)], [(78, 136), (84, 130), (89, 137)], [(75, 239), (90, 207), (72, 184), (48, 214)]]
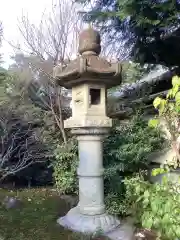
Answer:
[(79, 203), (58, 219), (78, 232), (108, 233), (120, 221), (105, 211), (103, 138), (112, 126), (106, 115), (107, 89), (121, 83), (121, 65), (102, 59), (100, 35), (91, 27), (79, 37), (79, 56), (67, 66), (56, 66), (56, 83), (72, 89), (72, 117), (64, 121), (77, 136), (79, 148)]

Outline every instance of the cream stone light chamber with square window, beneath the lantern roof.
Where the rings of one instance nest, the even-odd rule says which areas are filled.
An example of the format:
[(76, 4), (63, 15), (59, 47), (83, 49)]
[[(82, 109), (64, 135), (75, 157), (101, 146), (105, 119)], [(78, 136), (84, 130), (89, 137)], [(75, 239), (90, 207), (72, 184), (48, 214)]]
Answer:
[[(91, 100), (91, 90), (98, 90), (99, 103)], [(98, 84), (83, 84), (72, 88), (72, 117), (64, 121), (65, 128), (111, 127), (106, 116), (106, 88)]]

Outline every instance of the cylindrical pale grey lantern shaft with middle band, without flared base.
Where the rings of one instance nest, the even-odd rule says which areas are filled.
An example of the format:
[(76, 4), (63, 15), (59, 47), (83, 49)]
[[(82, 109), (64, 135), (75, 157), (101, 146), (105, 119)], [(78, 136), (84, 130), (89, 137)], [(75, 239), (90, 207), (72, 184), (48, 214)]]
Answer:
[(103, 214), (103, 137), (101, 135), (78, 136), (79, 144), (79, 207), (85, 215)]

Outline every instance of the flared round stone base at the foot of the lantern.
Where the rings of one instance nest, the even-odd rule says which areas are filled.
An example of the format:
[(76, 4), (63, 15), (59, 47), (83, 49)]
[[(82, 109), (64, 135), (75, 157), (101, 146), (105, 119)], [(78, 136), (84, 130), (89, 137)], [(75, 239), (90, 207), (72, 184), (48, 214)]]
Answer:
[(106, 213), (101, 215), (83, 215), (79, 207), (72, 208), (66, 216), (57, 220), (58, 224), (75, 232), (86, 234), (109, 233), (120, 225), (120, 221)]

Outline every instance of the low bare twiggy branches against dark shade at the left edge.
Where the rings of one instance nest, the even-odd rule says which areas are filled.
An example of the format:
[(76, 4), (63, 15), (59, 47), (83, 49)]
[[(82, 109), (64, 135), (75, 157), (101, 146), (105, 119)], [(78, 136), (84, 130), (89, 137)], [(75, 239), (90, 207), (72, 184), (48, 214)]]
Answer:
[(44, 145), (35, 139), (31, 123), (8, 114), (4, 119), (0, 121), (3, 130), (0, 136), (0, 181), (50, 157)]

